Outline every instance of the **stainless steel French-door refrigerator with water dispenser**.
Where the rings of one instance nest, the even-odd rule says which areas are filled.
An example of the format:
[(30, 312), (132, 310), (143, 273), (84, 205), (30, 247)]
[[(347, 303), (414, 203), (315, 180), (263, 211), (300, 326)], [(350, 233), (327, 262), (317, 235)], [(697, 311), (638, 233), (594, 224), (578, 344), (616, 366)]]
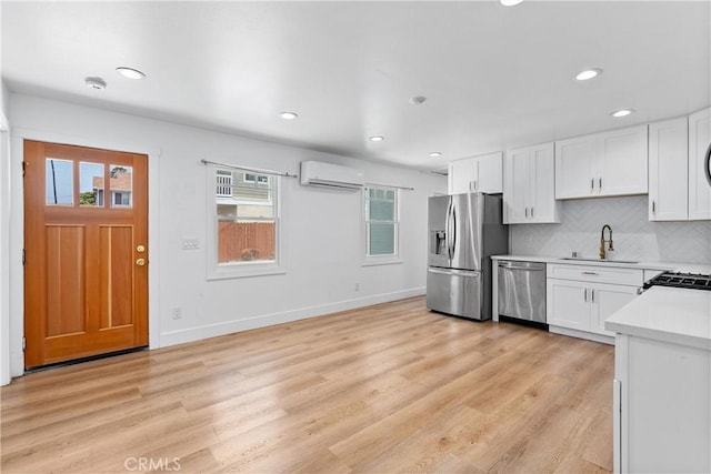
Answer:
[(491, 255), (509, 253), (500, 194), (468, 193), (428, 202), (427, 307), (491, 319)]

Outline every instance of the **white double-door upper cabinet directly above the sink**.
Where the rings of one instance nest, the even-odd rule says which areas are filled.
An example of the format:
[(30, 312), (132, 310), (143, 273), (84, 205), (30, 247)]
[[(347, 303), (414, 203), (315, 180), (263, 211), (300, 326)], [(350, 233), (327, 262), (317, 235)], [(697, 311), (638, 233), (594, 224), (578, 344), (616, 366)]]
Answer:
[(555, 142), (555, 199), (647, 193), (647, 125)]

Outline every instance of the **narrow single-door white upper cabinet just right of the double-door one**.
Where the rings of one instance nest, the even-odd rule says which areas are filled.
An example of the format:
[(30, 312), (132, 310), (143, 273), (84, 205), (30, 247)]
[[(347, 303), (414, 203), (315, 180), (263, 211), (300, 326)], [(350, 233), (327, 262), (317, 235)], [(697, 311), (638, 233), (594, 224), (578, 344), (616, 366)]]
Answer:
[(689, 122), (649, 125), (649, 220), (689, 219)]

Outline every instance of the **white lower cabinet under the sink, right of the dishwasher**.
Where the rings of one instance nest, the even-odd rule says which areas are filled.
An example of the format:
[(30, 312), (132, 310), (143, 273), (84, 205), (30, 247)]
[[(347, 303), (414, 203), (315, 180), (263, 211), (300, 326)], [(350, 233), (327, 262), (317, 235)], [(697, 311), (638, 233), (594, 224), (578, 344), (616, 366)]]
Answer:
[(612, 343), (614, 333), (605, 331), (604, 320), (637, 296), (642, 270), (568, 264), (548, 269), (549, 275), (559, 276), (547, 280), (545, 316), (551, 332)]

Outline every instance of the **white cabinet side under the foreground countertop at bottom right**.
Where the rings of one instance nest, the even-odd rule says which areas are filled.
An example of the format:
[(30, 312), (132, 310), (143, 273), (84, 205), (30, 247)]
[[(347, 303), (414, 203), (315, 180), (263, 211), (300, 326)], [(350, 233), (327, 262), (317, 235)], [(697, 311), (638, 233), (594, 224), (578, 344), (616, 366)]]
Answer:
[(711, 472), (709, 349), (618, 334), (614, 379), (615, 473)]

